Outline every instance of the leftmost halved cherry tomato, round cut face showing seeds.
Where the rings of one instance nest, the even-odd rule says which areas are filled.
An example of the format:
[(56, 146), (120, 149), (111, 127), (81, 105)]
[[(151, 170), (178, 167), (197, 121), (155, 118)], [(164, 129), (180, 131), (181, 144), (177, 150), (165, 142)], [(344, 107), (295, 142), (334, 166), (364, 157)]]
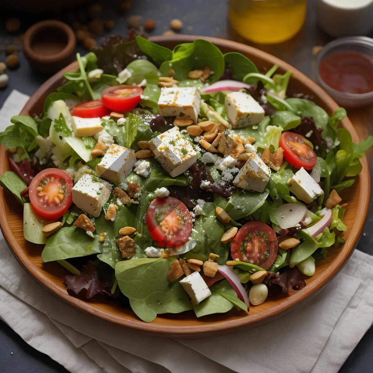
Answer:
[(72, 203), (73, 182), (70, 176), (58, 168), (47, 168), (32, 179), (29, 186), (31, 206), (47, 220), (56, 220)]

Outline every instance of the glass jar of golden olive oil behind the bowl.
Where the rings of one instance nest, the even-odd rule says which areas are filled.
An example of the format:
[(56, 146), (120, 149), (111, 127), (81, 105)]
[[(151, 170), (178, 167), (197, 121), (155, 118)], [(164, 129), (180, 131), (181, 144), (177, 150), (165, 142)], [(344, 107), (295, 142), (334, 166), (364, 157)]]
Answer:
[(231, 25), (245, 39), (275, 44), (302, 28), (307, 0), (229, 0)]

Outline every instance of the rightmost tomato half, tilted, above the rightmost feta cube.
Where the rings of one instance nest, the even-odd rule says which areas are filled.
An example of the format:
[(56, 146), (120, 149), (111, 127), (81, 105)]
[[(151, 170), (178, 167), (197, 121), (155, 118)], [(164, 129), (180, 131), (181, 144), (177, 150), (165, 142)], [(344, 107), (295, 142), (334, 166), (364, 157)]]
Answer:
[(283, 132), (280, 137), (283, 157), (296, 168), (311, 170), (317, 162), (315, 152), (307, 145), (307, 139), (294, 132)]

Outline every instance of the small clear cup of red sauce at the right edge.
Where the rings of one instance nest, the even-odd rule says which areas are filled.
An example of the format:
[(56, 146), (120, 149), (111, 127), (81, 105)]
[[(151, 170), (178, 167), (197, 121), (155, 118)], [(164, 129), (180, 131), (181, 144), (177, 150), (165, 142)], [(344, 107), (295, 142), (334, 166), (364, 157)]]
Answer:
[(327, 44), (317, 56), (316, 75), (340, 106), (373, 103), (373, 39), (355, 36)]

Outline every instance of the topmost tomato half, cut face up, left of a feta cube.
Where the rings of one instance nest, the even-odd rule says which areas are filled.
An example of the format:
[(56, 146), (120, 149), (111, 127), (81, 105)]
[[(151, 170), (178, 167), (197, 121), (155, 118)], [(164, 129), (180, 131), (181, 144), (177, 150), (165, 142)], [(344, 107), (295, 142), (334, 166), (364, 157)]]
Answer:
[(106, 88), (102, 93), (102, 102), (117, 113), (130, 112), (140, 102), (144, 90), (133, 85), (116, 85)]

